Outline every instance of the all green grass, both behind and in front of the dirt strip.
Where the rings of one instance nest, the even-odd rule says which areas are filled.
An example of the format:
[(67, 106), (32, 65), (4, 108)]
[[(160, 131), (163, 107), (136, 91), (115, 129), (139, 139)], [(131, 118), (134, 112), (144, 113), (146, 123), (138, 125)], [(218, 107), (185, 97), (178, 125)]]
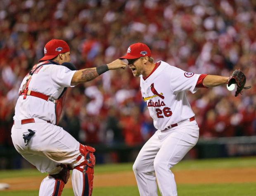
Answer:
[[(97, 173), (115, 173), (120, 171), (132, 171), (133, 163), (99, 164), (95, 167)], [(212, 168), (245, 168), (256, 167), (256, 157), (222, 158), (184, 160), (178, 163), (173, 170), (201, 170)], [(40, 173), (36, 169), (0, 171), (1, 178), (17, 177), (45, 177), (46, 173)], [(255, 196), (256, 182), (252, 183), (225, 183), (225, 184), (178, 184), (178, 196)], [(5, 196), (36, 196), (35, 191), (0, 191)], [(62, 196), (72, 196), (71, 188), (64, 188)], [(123, 187), (94, 187), (93, 196), (139, 196), (137, 186)], [(160, 193), (159, 193), (160, 196)]]

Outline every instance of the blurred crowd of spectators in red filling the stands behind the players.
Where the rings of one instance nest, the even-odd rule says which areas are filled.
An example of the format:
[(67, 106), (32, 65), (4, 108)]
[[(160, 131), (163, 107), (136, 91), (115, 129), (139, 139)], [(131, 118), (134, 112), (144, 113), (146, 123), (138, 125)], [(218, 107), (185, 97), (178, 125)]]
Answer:
[[(256, 1), (2, 0), (0, 3), (0, 146), (10, 130), (20, 83), (50, 39), (63, 39), (77, 69), (111, 62), (145, 43), (155, 62), (184, 71), (247, 76), (243, 95), (226, 85), (187, 97), (201, 138), (256, 135)], [(107, 71), (69, 88), (59, 123), (88, 145), (142, 144), (155, 128), (130, 69)]]

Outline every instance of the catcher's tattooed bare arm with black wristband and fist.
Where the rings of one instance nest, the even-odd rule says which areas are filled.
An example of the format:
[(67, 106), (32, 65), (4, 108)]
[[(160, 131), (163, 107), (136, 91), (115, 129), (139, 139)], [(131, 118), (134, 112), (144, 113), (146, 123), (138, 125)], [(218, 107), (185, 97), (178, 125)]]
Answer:
[(107, 67), (103, 65), (100, 69), (99, 67), (93, 67), (88, 69), (80, 69), (76, 71), (76, 73), (73, 75), (73, 78), (71, 80), (71, 85), (77, 85), (79, 83), (88, 82), (95, 78), (97, 78), (100, 74), (104, 73), (105, 71), (108, 71), (110, 69), (125, 69), (126, 68), (126, 62), (117, 59), (113, 62), (107, 64)]

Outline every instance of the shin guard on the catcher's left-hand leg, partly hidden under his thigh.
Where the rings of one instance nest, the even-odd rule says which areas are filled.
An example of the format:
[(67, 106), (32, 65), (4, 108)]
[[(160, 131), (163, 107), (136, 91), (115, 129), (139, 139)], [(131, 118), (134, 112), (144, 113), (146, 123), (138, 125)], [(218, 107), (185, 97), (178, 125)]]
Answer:
[(54, 193), (52, 194), (53, 196), (61, 196), (62, 190), (65, 184), (69, 180), (69, 176), (70, 176), (69, 170), (73, 169), (71, 165), (60, 164), (58, 166), (62, 167), (62, 170), (59, 173), (49, 174), (50, 176), (55, 178), (55, 188), (54, 188)]

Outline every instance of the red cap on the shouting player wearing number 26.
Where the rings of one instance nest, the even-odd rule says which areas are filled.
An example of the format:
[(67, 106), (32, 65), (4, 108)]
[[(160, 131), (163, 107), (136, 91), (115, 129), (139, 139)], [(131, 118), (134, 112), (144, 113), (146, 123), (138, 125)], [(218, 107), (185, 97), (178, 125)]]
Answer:
[(146, 44), (142, 44), (138, 42), (136, 44), (130, 45), (126, 55), (122, 56), (119, 59), (135, 59), (135, 58), (140, 58), (142, 56), (151, 57), (151, 51)]

